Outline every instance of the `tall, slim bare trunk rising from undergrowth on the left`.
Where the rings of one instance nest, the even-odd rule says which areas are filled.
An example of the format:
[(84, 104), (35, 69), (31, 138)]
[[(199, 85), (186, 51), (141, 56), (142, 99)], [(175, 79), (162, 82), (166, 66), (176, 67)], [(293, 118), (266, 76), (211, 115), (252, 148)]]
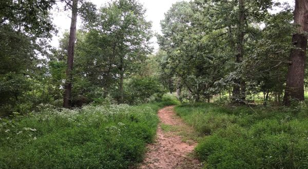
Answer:
[(73, 0), (71, 26), (70, 26), (69, 41), (68, 41), (66, 80), (64, 85), (64, 90), (65, 90), (63, 98), (64, 108), (69, 108), (71, 106), (71, 91), (72, 91), (72, 79), (73, 79), (72, 70), (74, 64), (74, 47), (76, 41), (77, 14), (78, 14), (78, 0)]

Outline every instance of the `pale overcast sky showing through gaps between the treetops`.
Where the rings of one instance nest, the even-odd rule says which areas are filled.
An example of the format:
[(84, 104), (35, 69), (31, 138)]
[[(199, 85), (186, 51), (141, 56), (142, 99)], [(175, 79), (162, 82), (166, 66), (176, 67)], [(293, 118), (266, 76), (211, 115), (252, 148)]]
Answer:
[[(106, 2), (110, 0), (91, 0), (92, 3), (96, 4), (98, 7), (101, 7)], [(153, 32), (161, 33), (160, 20), (164, 19), (164, 13), (168, 11), (172, 4), (180, 0), (139, 0), (141, 4), (144, 5), (146, 11), (146, 19), (152, 22)], [(190, 0), (185, 0), (190, 1)], [(252, 0), (257, 1), (257, 0)], [(294, 5), (295, 0), (277, 0), (277, 2), (288, 2), (291, 5)], [(59, 38), (62, 37), (62, 34), (65, 30), (68, 30), (70, 27), (70, 13), (69, 12), (53, 12), (53, 23), (59, 29), (59, 33), (52, 38), (51, 45), (53, 47), (59, 46)], [(81, 20), (78, 20), (78, 25), (81, 24)], [(153, 47), (158, 49), (157, 39), (152, 38)]]

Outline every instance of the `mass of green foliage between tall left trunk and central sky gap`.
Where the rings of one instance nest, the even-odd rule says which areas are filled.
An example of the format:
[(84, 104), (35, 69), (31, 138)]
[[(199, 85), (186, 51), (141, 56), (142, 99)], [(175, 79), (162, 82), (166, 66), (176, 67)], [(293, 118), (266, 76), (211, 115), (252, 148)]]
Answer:
[[(77, 32), (73, 105), (108, 95), (120, 103), (143, 102), (149, 94), (134, 100), (130, 91), (124, 91), (124, 81), (141, 72), (151, 52), (151, 23), (145, 19), (145, 9), (137, 1), (119, 0), (107, 3), (91, 17), (84, 30)], [(67, 53), (68, 37), (66, 33), (61, 40), (61, 54)]]

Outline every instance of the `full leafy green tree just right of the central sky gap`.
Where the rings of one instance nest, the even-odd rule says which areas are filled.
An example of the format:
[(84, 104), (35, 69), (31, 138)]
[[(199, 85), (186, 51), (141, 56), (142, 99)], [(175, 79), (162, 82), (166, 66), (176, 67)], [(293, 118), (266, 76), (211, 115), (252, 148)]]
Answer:
[(218, 48), (226, 43), (220, 36), (224, 32), (210, 32), (202, 24), (209, 20), (194, 8), (194, 4), (187, 2), (172, 5), (161, 22), (163, 35), (158, 39), (167, 55), (161, 60), (163, 78), (177, 83), (174, 86), (179, 95), (187, 89), (195, 101), (201, 101), (218, 92), (215, 82), (225, 71), (217, 68), (228, 58)]

